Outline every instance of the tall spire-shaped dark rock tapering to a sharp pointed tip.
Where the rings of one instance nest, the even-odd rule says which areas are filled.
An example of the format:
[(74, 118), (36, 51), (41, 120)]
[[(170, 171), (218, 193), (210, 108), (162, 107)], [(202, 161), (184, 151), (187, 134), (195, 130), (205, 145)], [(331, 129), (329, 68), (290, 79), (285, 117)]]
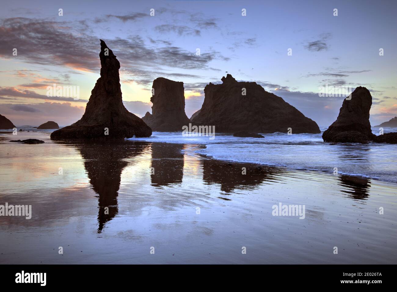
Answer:
[(120, 63), (103, 40), (100, 40), (100, 47), (100, 78), (91, 91), (83, 117), (70, 126), (52, 132), (51, 139), (123, 139), (134, 135), (148, 137), (152, 134), (142, 119), (124, 107), (120, 88)]

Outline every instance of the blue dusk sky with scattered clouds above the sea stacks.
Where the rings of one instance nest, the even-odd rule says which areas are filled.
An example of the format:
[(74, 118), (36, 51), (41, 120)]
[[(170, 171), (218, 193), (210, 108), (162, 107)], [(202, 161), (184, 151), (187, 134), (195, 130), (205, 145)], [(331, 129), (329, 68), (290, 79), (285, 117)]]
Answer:
[[(6, 1), (0, 114), (17, 126), (80, 119), (100, 76), (103, 39), (121, 64), (125, 107), (139, 117), (151, 112), (157, 77), (184, 83), (191, 117), (204, 87), (229, 73), (281, 96), (319, 126), (335, 121), (343, 102), (320, 97), (320, 86), (365, 86), (370, 122), (378, 125), (397, 116), (396, 8), (382, 0)], [(78, 86), (79, 100), (48, 97), (54, 83)]]

